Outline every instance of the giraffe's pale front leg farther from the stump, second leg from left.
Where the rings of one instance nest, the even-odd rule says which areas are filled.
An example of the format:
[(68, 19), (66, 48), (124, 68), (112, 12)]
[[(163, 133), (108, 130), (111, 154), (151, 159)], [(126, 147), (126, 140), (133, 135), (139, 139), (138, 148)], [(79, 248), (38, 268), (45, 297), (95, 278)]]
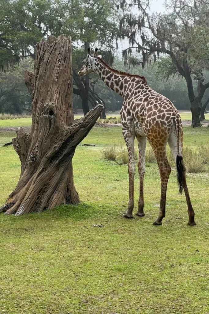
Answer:
[(147, 139), (138, 136), (138, 174), (139, 174), (139, 200), (137, 216), (144, 216), (144, 173), (145, 173), (145, 149)]

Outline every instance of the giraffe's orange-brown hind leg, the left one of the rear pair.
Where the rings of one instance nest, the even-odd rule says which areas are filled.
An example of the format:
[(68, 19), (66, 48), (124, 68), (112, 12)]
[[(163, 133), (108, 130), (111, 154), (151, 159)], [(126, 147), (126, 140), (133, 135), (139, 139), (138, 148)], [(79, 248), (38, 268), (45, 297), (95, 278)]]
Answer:
[(158, 218), (154, 221), (153, 225), (162, 225), (162, 219), (165, 217), (166, 192), (171, 168), (166, 157), (166, 144), (163, 146), (159, 146), (157, 149), (154, 147), (154, 145), (152, 145), (152, 143), (150, 144), (154, 150), (155, 157), (157, 159), (161, 179), (159, 215)]

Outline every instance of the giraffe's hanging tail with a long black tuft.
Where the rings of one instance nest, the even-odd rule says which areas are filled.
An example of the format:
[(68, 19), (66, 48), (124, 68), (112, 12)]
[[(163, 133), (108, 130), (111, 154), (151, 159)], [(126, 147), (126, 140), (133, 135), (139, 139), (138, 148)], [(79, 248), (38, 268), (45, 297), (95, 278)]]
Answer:
[(175, 129), (176, 129), (176, 136), (177, 136), (177, 156), (176, 156), (176, 169), (177, 169), (177, 181), (179, 184), (179, 194), (183, 192), (183, 173), (185, 171), (184, 163), (183, 163), (183, 156), (180, 153), (183, 149), (183, 129), (181, 125), (180, 116), (178, 119), (174, 119), (175, 122)]

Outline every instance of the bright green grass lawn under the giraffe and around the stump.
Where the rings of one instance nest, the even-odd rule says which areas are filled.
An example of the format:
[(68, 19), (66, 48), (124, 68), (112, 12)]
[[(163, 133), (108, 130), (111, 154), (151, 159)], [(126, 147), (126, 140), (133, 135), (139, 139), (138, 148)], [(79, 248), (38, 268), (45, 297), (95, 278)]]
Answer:
[[(0, 133), (0, 146), (13, 136)], [(185, 127), (184, 138), (187, 145), (207, 143), (209, 128)], [(156, 164), (146, 168), (145, 217), (124, 219), (128, 167), (104, 161), (100, 152), (124, 145), (121, 128), (94, 127), (83, 143), (97, 146), (78, 146), (73, 158), (81, 204), (0, 214), (0, 314), (208, 314), (209, 174), (187, 176), (195, 227), (187, 225), (175, 170), (163, 225), (152, 225), (160, 201)], [(12, 147), (0, 147), (0, 165), (1, 205), (20, 174)], [(135, 212), (138, 190), (136, 176)]]

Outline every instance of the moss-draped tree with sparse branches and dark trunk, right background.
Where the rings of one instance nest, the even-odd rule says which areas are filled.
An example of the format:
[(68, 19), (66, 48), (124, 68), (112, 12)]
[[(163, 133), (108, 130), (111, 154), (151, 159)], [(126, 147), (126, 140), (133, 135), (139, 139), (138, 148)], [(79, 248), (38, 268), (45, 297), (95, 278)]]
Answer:
[[(138, 16), (132, 8), (138, 8)], [(192, 127), (200, 123), (201, 100), (209, 82), (204, 82), (203, 69), (209, 68), (209, 3), (208, 0), (170, 0), (165, 3), (167, 13), (149, 13), (149, 0), (122, 1), (117, 8), (123, 10), (119, 38), (129, 39), (130, 47), (123, 51), (127, 56), (132, 50), (142, 54), (143, 66), (160, 54), (167, 54), (169, 73), (182, 75), (187, 84), (191, 103)], [(198, 80), (195, 96), (192, 75)]]

